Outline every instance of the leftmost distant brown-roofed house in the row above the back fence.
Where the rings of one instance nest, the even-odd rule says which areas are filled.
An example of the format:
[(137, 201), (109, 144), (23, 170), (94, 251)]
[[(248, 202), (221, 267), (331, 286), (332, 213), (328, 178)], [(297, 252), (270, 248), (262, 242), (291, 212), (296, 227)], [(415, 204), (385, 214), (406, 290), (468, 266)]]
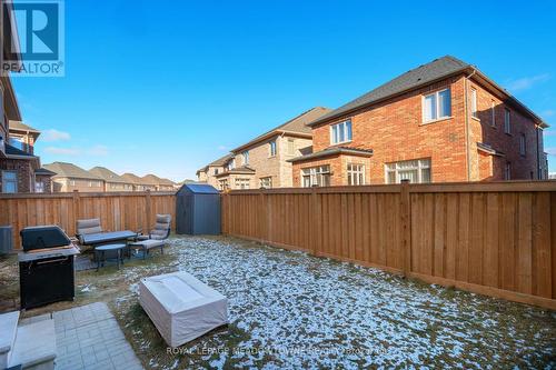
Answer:
[(44, 168), (54, 172), (52, 186), (54, 192), (102, 192), (105, 191), (105, 180), (102, 178), (83, 170), (72, 163), (53, 162), (44, 164)]

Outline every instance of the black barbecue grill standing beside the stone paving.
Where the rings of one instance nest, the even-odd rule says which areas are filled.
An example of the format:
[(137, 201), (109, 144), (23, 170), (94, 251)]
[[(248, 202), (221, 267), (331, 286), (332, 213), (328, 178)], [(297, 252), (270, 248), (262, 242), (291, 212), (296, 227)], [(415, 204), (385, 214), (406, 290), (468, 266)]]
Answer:
[(57, 226), (20, 231), (18, 254), (21, 309), (73, 300), (73, 257), (79, 250)]

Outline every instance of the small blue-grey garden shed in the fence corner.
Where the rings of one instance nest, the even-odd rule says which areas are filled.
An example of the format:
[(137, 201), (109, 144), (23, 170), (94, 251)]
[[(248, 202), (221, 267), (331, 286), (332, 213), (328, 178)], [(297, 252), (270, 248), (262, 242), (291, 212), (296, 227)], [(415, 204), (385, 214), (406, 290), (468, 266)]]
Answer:
[(186, 183), (176, 194), (176, 232), (220, 233), (220, 193), (205, 183)]

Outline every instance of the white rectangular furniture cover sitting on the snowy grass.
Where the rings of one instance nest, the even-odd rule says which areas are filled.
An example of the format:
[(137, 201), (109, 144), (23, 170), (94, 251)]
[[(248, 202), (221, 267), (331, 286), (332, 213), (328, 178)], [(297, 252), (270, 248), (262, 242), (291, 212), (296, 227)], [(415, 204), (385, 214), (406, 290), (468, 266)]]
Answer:
[(141, 279), (139, 303), (170, 347), (228, 323), (228, 300), (187, 272)]

